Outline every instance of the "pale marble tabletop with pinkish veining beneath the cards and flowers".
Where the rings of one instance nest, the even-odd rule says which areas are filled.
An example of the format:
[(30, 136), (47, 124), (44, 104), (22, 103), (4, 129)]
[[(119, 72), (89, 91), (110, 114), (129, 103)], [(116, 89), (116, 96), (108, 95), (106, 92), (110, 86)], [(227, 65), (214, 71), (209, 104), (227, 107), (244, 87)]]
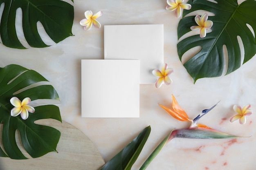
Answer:
[[(146, 126), (152, 130), (139, 159), (137, 170), (147, 156), (173, 128), (185, 128), (165, 113), (158, 103), (171, 104), (171, 94), (193, 118), (201, 110), (220, 103), (200, 119), (201, 124), (240, 136), (240, 139), (173, 139), (148, 166), (148, 170), (253, 170), (256, 167), (256, 114), (247, 123), (229, 122), (235, 113), (234, 104), (252, 104), (256, 110), (256, 57), (234, 73), (217, 78), (193, 79), (177, 55), (177, 24), (179, 18), (166, 11), (165, 0), (74, 0), (74, 25), (69, 37), (43, 49), (10, 49), (0, 44), (0, 67), (20, 64), (38, 71), (56, 88), (63, 120), (83, 131), (109, 161)], [(103, 27), (84, 31), (79, 21), (84, 12), (103, 11), (97, 20), (111, 24), (164, 24), (164, 62), (174, 69), (173, 84), (155, 88), (154, 84), (140, 85), (140, 118), (81, 118), (81, 59), (103, 59)], [(100, 104), (99, 104), (100, 106)]]

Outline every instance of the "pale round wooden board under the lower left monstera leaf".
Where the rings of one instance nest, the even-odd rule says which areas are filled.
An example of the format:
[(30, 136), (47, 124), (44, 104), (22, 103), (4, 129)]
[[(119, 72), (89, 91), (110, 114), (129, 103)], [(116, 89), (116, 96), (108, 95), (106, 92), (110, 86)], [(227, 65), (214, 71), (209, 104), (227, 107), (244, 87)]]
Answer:
[[(79, 129), (63, 121), (38, 120), (36, 124), (52, 126), (61, 131), (57, 152), (49, 152), (35, 159), (14, 160), (0, 157), (0, 170), (99, 170), (104, 160), (95, 144)], [(2, 126), (0, 126), (0, 132)], [(19, 134), (16, 141), (26, 157), (30, 157), (20, 144)]]

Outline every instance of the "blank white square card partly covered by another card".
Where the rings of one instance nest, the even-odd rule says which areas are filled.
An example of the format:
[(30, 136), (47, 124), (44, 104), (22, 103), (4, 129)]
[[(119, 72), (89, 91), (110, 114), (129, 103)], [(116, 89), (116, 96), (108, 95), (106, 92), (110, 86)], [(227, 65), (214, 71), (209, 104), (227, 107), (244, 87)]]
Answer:
[(104, 58), (140, 60), (140, 84), (154, 84), (152, 71), (164, 63), (163, 24), (105, 25)]

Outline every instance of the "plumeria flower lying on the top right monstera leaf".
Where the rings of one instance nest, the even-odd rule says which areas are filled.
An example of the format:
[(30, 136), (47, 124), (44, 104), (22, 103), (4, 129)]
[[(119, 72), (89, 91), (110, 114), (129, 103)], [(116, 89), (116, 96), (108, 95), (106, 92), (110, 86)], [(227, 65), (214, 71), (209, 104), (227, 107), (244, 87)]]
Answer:
[(198, 24), (197, 26), (191, 26), (191, 30), (197, 30), (200, 29), (200, 37), (204, 38), (206, 36), (206, 29), (211, 29), (213, 26), (212, 21), (208, 21), (208, 15), (207, 13), (204, 13), (201, 17), (196, 15), (195, 16), (195, 22)]

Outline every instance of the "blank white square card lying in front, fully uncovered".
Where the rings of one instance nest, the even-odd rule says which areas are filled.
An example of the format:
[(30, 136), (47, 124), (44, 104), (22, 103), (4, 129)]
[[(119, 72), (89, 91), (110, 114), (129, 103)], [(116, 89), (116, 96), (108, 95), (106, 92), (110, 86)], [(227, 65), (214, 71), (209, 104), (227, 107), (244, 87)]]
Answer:
[(82, 117), (139, 117), (139, 60), (81, 60)]

